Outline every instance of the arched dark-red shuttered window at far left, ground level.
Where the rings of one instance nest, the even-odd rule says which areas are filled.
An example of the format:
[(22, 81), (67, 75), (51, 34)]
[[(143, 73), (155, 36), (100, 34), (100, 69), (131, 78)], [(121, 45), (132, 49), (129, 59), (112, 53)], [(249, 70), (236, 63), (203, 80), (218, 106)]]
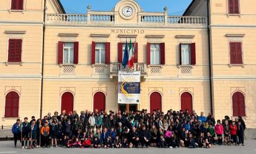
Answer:
[(19, 94), (11, 91), (6, 95), (4, 117), (19, 117)]

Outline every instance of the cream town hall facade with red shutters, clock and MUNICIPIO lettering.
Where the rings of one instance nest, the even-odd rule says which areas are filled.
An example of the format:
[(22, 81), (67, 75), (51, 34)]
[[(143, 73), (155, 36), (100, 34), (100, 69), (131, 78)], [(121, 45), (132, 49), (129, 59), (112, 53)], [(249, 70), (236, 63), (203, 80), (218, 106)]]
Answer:
[[(0, 122), (76, 110), (169, 109), (243, 116), (256, 127), (254, 1), (191, 2), (183, 16), (112, 11), (66, 14), (57, 0), (1, 2)], [(250, 2), (249, 2), (250, 1)], [(43, 9), (45, 8), (45, 9)], [(126, 42), (136, 42), (140, 104), (117, 104)]]

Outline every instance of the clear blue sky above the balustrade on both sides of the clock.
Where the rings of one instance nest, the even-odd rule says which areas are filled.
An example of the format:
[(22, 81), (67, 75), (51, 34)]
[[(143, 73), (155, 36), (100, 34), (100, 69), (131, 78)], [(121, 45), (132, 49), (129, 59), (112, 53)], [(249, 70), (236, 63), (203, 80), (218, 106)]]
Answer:
[[(111, 11), (119, 0), (60, 0), (65, 11), (70, 14), (84, 14), (86, 7), (92, 11)], [(182, 15), (192, 0), (136, 0), (145, 12), (163, 12), (168, 7), (171, 16)]]

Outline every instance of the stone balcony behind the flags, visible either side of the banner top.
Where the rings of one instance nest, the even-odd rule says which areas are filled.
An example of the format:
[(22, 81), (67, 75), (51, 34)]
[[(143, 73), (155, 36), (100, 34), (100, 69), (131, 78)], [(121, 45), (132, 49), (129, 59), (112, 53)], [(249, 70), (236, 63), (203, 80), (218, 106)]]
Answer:
[[(109, 76), (113, 78), (114, 76), (118, 76), (118, 71), (123, 71), (124, 67), (121, 63), (111, 63), (109, 68)], [(131, 69), (132, 71), (140, 71), (140, 75), (142, 77), (147, 76), (147, 64), (146, 63), (134, 63), (134, 67)]]

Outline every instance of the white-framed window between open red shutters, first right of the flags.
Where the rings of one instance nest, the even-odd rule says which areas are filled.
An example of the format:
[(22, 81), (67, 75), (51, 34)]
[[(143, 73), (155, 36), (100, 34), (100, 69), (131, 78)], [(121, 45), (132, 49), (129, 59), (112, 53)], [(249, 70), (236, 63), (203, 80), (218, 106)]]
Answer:
[(150, 44), (150, 65), (160, 65), (160, 44)]

